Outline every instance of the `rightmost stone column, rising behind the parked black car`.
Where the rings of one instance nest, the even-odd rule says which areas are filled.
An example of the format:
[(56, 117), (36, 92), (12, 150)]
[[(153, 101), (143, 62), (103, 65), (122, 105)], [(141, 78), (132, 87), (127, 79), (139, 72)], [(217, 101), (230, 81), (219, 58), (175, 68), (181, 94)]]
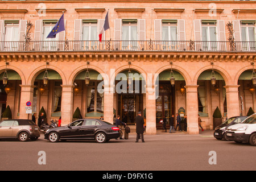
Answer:
[(228, 110), (228, 118), (240, 115), (240, 102), (238, 87), (240, 85), (226, 85), (226, 105)]

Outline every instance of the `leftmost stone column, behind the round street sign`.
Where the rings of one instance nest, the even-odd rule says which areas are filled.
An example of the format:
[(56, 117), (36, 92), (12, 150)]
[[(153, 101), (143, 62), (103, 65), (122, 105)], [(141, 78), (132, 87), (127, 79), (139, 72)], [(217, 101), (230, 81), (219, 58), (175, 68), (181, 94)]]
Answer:
[[(32, 114), (29, 115), (26, 114), (26, 102), (33, 101), (33, 94), (34, 94), (34, 85), (19, 85), (21, 87), (20, 90), (20, 106), (19, 106), (19, 118), (20, 119), (31, 119)], [(32, 105), (31, 105), (32, 107)]]

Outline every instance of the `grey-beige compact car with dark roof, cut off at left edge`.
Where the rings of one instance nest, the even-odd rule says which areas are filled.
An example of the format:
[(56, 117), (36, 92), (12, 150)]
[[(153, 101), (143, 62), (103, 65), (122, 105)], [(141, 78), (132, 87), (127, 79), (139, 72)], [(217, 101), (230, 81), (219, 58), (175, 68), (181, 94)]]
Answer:
[(19, 139), (26, 142), (29, 138), (37, 140), (40, 137), (40, 130), (32, 120), (9, 119), (0, 123), (0, 139)]

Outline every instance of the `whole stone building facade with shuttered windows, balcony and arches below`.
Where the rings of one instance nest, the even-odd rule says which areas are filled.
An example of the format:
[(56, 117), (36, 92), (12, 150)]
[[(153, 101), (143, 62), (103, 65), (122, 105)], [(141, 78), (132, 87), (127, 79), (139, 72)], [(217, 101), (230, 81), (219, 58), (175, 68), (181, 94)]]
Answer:
[[(121, 115), (130, 125), (141, 111), (146, 132), (156, 134), (163, 115), (179, 113), (187, 115), (188, 133), (198, 134), (198, 115), (213, 129), (217, 107), (223, 120), (256, 109), (254, 1), (0, 4), (0, 77), (8, 74), (0, 107), (9, 105), (13, 118), (31, 118), (27, 101), (33, 113), (44, 107), (47, 121), (61, 116), (63, 125), (77, 107), (83, 118), (113, 123)], [(99, 42), (107, 12), (110, 29)], [(63, 13), (65, 31), (46, 39)]]

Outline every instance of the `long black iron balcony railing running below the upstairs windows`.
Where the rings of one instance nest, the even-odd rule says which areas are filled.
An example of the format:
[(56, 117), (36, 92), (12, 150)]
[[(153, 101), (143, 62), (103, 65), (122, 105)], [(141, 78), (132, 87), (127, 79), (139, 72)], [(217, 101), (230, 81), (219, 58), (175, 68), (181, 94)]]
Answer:
[(213, 51), (256, 52), (256, 42), (225, 41), (30, 41), (0, 42), (1, 52), (17, 51)]

